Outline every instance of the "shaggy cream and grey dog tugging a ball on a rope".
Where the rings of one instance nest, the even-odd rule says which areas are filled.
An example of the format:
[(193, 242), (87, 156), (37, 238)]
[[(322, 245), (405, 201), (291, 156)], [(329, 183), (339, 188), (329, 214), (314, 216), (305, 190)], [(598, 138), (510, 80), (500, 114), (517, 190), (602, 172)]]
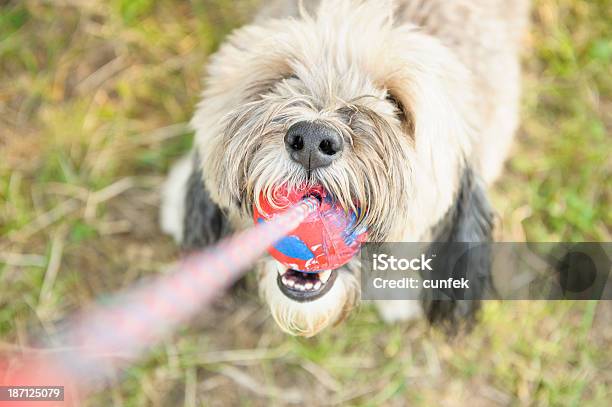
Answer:
[[(193, 152), (163, 190), (162, 229), (198, 249), (251, 226), (260, 194), (318, 185), (359, 211), (370, 241), (491, 240), (486, 188), (518, 125), (527, 9), (527, 0), (269, 2), (211, 57)], [(486, 276), (489, 260), (479, 264)], [(321, 272), (318, 289), (271, 258), (256, 272), (280, 328), (312, 336), (355, 307), (359, 269), (355, 258)], [(478, 309), (377, 305), (389, 322)]]

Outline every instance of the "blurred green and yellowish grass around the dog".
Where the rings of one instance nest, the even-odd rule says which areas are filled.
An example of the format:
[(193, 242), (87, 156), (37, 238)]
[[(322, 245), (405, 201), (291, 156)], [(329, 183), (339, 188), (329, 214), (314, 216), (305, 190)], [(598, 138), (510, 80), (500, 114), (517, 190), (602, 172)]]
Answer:
[[(0, 350), (175, 258), (157, 188), (191, 143), (207, 56), (253, 3), (1, 2)], [(532, 14), (523, 126), (493, 193), (500, 234), (610, 241), (609, 4), (540, 0)], [(611, 317), (605, 302), (492, 302), (449, 339), (363, 306), (301, 339), (243, 293), (87, 404), (603, 406)]]

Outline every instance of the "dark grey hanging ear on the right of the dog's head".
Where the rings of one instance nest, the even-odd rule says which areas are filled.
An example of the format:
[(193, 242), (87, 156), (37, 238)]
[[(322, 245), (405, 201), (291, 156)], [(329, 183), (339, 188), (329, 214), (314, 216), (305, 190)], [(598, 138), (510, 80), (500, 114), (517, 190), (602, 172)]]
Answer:
[[(490, 285), (492, 263), (488, 243), (492, 234), (493, 211), (485, 188), (467, 168), (453, 207), (434, 230), (436, 243), (431, 250), (436, 254), (432, 267), (434, 278), (465, 277), (469, 280), (469, 289), (425, 292), (424, 309), (430, 322), (454, 329), (459, 321), (474, 319), (480, 299)], [(461, 242), (466, 244), (457, 244)]]

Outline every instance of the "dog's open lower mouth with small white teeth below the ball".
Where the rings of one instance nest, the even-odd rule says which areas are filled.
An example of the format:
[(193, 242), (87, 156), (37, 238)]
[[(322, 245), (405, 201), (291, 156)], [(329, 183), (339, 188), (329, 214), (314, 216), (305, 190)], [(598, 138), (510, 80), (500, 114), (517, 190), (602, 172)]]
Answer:
[(327, 293), (336, 281), (338, 272), (326, 270), (304, 273), (294, 269), (279, 272), (278, 287), (285, 296), (299, 302), (314, 301)]

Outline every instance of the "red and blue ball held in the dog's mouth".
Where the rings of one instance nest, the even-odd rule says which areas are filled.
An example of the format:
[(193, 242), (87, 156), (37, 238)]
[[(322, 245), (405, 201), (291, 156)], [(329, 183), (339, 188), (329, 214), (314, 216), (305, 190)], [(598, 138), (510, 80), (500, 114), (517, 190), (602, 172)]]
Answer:
[(346, 264), (366, 240), (365, 229), (355, 229), (357, 216), (337, 206), (320, 186), (287, 189), (275, 188), (269, 196), (261, 194), (254, 205), (254, 220), (265, 222), (304, 197), (315, 196), (321, 201), (311, 214), (288, 236), (270, 247), (269, 253), (286, 267), (303, 272), (333, 270)]

